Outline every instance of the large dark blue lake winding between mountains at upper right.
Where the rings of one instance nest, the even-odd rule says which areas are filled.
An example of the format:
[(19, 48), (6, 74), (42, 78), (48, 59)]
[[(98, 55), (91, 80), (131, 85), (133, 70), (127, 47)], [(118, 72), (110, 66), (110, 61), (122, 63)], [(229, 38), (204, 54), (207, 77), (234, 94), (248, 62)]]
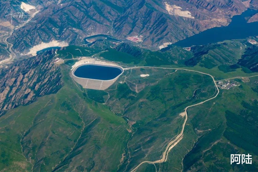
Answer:
[(249, 17), (255, 13), (257, 13), (256, 10), (248, 9), (241, 15), (233, 16), (232, 21), (228, 26), (205, 30), (172, 45), (190, 47), (192, 45), (205, 45), (224, 40), (244, 39), (249, 36), (258, 36), (258, 22), (247, 23), (245, 20), (245, 17)]

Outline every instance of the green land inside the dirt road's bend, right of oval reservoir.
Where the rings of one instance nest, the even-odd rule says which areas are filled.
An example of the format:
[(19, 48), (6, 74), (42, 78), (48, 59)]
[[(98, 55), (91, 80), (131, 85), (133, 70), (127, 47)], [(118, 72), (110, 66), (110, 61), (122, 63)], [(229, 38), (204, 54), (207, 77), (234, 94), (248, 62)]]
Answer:
[[(142, 73), (150, 76), (140, 78)], [(124, 72), (117, 82), (116, 89), (107, 91), (110, 98), (106, 104), (127, 120), (133, 134), (128, 141), (129, 163), (125, 162), (122, 171), (132, 170), (143, 160), (157, 160), (168, 142), (180, 133), (184, 108), (215, 93), (211, 77), (173, 69), (136, 68)], [(135, 85), (141, 85), (142, 91), (135, 94)], [(196, 96), (198, 89), (209, 96)]]

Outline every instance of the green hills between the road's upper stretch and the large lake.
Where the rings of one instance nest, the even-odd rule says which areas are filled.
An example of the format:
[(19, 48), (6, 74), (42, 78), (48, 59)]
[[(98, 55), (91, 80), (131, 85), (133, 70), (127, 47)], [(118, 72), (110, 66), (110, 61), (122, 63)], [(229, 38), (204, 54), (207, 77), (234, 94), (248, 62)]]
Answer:
[[(198, 46), (188, 52), (182, 48), (171, 46), (162, 51), (144, 50), (139, 61), (139, 55), (110, 50), (102, 52), (95, 57), (101, 60), (112, 61), (127, 67), (156, 66), (168, 68), (182, 68), (209, 73), (216, 80), (232, 78), (236, 76), (253, 76), (258, 72), (251, 71), (245, 66), (240, 66), (239, 60), (245, 53), (251, 53), (244, 49), (246, 40), (226, 40), (217, 44)], [(188, 61), (192, 61), (188, 64)], [(243, 64), (244, 65), (244, 64)]]

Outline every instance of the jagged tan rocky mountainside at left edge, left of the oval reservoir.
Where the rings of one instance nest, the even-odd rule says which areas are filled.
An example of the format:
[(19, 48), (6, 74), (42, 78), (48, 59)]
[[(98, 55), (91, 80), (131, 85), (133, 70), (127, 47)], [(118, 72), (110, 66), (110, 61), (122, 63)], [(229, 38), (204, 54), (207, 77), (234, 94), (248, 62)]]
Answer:
[(0, 69), (0, 110), (33, 102), (61, 88), (61, 72), (52, 53), (37, 55)]

